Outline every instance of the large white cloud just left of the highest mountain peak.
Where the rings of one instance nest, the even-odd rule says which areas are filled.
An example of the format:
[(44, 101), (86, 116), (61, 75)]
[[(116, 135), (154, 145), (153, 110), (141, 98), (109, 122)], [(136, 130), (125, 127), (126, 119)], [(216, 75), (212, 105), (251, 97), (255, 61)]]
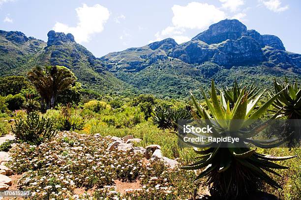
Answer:
[(190, 38), (183, 35), (185, 29), (205, 30), (209, 25), (226, 18), (223, 11), (207, 3), (190, 2), (186, 6), (174, 5), (172, 11), (174, 13), (172, 25), (157, 32), (155, 40), (150, 42), (160, 41), (168, 37), (175, 39), (179, 44), (187, 42)]

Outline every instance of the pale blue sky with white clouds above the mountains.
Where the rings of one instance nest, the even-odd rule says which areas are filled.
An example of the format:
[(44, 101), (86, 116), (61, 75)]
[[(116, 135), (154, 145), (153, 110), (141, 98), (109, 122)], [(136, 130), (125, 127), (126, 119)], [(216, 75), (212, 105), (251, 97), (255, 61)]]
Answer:
[(96, 57), (172, 37), (187, 41), (222, 19), (278, 36), (301, 53), (300, 0), (0, 0), (0, 29), (47, 41), (71, 32)]

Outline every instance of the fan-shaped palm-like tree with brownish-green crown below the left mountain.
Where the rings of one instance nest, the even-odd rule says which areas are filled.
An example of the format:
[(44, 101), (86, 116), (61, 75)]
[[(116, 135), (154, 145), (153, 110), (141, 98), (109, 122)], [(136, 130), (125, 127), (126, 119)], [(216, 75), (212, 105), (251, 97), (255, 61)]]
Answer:
[(28, 78), (46, 103), (46, 109), (55, 105), (58, 95), (75, 83), (75, 75), (63, 66), (35, 67)]

